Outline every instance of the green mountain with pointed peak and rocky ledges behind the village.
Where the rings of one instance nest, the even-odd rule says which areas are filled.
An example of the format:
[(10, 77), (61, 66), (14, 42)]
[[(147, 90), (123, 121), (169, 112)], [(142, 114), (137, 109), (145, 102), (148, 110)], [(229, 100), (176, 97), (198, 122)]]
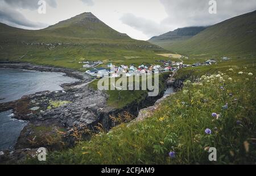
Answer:
[(96, 59), (114, 63), (152, 62), (155, 53), (165, 51), (115, 31), (90, 12), (35, 31), (0, 24), (0, 38), (0, 60), (71, 68), (81, 68), (80, 61)]

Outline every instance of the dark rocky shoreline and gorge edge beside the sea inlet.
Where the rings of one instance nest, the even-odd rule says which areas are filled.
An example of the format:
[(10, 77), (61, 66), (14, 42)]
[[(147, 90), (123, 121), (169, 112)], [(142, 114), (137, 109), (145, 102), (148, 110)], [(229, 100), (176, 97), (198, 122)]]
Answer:
[[(50, 150), (72, 147), (76, 138), (79, 138), (80, 131), (97, 130), (98, 124), (105, 130), (110, 130), (115, 126), (111, 117), (125, 112), (137, 117), (140, 109), (153, 105), (163, 96), (162, 92), (158, 97), (147, 97), (122, 109), (114, 109), (107, 105), (108, 95), (90, 88), (92, 78), (81, 72), (18, 62), (1, 62), (0, 68), (64, 72), (67, 76), (80, 79), (77, 83), (61, 85), (63, 91), (38, 92), (23, 96), (20, 100), (0, 104), (0, 111), (12, 109), (13, 118), (28, 121), (28, 125), (20, 133), (15, 151), (0, 153), (0, 160), (2, 158), (3, 161), (11, 161), (17, 157), (19, 160), (19, 157), (24, 156), (24, 151), (29, 153), (39, 147)], [(65, 104), (51, 108), (51, 104), (61, 102)]]

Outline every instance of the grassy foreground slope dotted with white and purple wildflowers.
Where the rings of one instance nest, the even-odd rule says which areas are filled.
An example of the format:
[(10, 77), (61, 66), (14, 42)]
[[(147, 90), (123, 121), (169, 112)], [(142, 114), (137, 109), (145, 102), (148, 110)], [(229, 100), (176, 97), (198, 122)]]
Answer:
[[(187, 81), (183, 91), (167, 98), (150, 118), (51, 152), (44, 164), (256, 164), (256, 72), (249, 63), (234, 60), (220, 68), (181, 70), (179, 79), (192, 83)], [(207, 128), (211, 134), (205, 133)], [(208, 160), (209, 147), (217, 149), (217, 161)], [(175, 152), (175, 158), (169, 152)]]

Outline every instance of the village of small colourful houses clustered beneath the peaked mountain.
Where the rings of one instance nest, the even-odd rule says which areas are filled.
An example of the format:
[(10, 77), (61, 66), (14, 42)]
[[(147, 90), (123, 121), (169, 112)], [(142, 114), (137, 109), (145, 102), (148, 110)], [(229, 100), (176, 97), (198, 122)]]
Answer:
[(105, 67), (97, 67), (103, 64), (102, 61), (85, 61), (80, 62), (83, 65), (83, 68), (88, 68), (89, 70), (86, 71), (86, 74), (89, 74), (93, 77), (98, 79), (110, 77), (110, 78), (118, 78), (121, 76), (141, 76), (141, 75), (150, 75), (156, 74), (160, 72), (168, 72), (172, 71), (175, 72), (181, 68), (185, 67), (198, 67), (204, 65), (213, 65), (216, 64), (216, 60), (210, 59), (205, 61), (204, 63), (194, 63), (193, 65), (185, 65), (183, 62), (176, 62), (176, 61), (164, 61), (164, 60), (157, 60), (159, 64), (154, 65), (139, 65), (135, 67), (134, 65), (113, 65), (112, 63), (108, 63)]

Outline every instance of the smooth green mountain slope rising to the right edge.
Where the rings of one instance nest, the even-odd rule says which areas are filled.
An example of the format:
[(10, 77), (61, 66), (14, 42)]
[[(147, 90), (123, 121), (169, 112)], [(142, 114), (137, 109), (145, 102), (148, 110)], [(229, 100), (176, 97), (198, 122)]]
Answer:
[(181, 54), (254, 54), (256, 11), (213, 25), (168, 49)]

